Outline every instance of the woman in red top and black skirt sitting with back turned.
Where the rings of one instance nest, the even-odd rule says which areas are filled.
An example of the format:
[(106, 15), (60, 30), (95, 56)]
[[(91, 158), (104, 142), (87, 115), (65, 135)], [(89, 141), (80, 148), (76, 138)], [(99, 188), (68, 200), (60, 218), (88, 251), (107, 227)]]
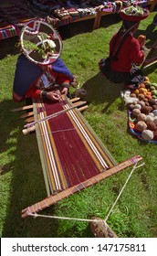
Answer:
[[(140, 11), (136, 13), (135, 10)], [(136, 39), (133, 35), (137, 31), (140, 21), (148, 15), (148, 11), (133, 6), (120, 12), (123, 22), (118, 33), (110, 40), (110, 58), (99, 61), (100, 71), (110, 81), (123, 82), (128, 87), (134, 88), (144, 80), (141, 70), (136, 65), (141, 65), (144, 59), (145, 37), (141, 35)]]

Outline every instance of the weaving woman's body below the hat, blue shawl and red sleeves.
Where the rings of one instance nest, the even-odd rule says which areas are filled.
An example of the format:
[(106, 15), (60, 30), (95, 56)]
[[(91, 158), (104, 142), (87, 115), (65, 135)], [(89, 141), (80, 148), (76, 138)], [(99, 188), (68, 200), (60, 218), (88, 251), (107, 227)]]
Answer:
[(21, 54), (16, 63), (13, 100), (27, 98), (59, 101), (61, 94), (68, 95), (68, 87), (74, 82), (61, 59), (47, 66), (37, 65)]

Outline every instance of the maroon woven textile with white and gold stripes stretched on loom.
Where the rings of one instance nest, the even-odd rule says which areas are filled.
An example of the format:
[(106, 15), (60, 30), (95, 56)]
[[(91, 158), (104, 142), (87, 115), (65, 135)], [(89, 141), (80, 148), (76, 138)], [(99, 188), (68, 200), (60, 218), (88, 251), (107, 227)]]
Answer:
[[(35, 121), (69, 107), (68, 100), (34, 102)], [(47, 195), (76, 186), (116, 164), (78, 109), (36, 123), (36, 133)]]

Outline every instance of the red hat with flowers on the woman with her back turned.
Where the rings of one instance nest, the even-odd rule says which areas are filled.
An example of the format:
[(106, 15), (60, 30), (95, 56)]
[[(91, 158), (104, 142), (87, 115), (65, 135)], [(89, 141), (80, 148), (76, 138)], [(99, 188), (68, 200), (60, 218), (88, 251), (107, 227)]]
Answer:
[[(141, 13), (136, 12), (137, 10), (141, 10)], [(140, 6), (137, 6), (137, 7), (130, 6), (120, 11), (121, 19), (128, 20), (128, 21), (135, 21), (135, 22), (145, 19), (147, 16), (149, 16), (149, 14), (150, 12), (148, 10), (142, 9)]]

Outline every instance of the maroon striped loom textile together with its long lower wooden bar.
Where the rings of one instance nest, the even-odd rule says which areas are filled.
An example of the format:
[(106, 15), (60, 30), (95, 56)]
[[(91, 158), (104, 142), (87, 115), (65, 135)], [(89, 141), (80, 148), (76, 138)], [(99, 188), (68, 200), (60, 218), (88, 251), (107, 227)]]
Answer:
[(22, 218), (58, 203), (84, 188), (141, 161), (140, 155), (116, 164), (78, 109), (68, 99), (36, 101), (37, 144), (47, 197), (22, 210)]

